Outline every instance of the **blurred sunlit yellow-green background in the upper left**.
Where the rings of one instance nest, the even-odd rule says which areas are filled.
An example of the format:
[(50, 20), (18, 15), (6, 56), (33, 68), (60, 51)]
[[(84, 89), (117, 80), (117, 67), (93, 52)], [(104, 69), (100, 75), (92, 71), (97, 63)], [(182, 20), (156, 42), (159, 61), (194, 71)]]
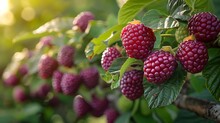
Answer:
[(33, 48), (36, 40), (13, 43), (13, 38), (31, 32), (56, 17), (74, 17), (81, 11), (95, 13), (97, 20), (117, 16), (115, 0), (0, 0), (0, 74), (14, 52)]

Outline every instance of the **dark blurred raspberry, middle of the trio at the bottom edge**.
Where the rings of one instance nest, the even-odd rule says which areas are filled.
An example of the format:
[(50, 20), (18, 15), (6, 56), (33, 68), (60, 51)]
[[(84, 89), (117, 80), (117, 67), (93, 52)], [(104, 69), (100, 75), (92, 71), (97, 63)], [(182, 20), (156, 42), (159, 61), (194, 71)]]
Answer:
[(92, 107), (92, 115), (95, 117), (100, 117), (103, 115), (104, 111), (108, 107), (108, 99), (105, 98), (98, 98), (95, 95), (92, 95), (92, 102), (90, 103)]

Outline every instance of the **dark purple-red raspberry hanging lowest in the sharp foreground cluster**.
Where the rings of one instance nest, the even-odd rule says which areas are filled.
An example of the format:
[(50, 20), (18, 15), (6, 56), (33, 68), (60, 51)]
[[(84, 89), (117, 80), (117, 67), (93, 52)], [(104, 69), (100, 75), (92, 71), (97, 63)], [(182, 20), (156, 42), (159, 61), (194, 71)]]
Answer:
[(142, 82), (142, 71), (132, 70), (125, 72), (120, 82), (120, 89), (122, 94), (130, 100), (135, 100), (141, 97), (144, 93)]

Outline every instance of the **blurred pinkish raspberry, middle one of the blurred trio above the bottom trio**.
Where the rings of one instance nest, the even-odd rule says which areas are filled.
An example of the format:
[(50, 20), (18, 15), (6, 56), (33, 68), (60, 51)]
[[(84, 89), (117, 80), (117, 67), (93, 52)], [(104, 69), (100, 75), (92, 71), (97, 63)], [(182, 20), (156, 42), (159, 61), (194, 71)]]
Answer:
[(79, 75), (66, 73), (61, 80), (61, 89), (66, 95), (73, 95), (79, 89), (81, 84)]

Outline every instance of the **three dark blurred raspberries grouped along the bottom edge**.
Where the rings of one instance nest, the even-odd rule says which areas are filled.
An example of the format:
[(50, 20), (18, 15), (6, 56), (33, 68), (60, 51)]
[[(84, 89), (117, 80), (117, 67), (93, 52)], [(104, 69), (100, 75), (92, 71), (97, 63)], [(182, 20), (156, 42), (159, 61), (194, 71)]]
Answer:
[(81, 95), (75, 96), (73, 100), (73, 110), (77, 118), (83, 118), (88, 114), (94, 117), (105, 116), (107, 123), (114, 123), (119, 116), (118, 111), (109, 106), (109, 100), (104, 97), (92, 95), (90, 102), (86, 101)]

